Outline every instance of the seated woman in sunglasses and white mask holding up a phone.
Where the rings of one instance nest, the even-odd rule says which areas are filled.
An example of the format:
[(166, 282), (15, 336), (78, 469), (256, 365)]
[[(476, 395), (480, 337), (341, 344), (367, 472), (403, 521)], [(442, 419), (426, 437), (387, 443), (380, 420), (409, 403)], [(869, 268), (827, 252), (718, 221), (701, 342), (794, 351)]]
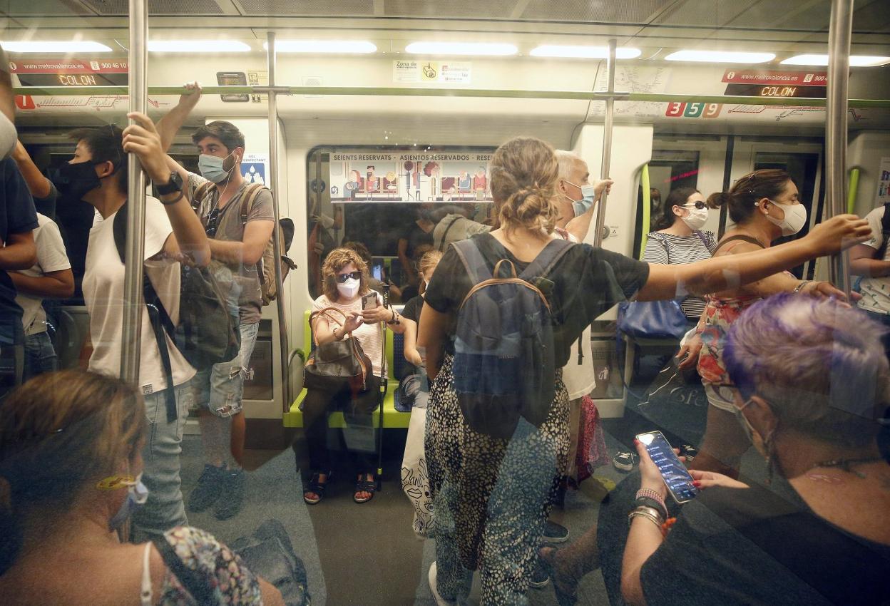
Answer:
[[(371, 360), (373, 376), (368, 377), (368, 389), (352, 392), (348, 384), (339, 392), (310, 389), (303, 400), (303, 432), (309, 447), (312, 473), (303, 490), (303, 500), (316, 505), (325, 496), (331, 470), (328, 452), (328, 413), (344, 412), (346, 448), (352, 454), (358, 480), (352, 496), (356, 503), (366, 503), (374, 497), (376, 468), (372, 413), (377, 407), (380, 378), (384, 368), (384, 322), (393, 332), (404, 332), (401, 316), (392, 308), (384, 308), (383, 297), (368, 287), (368, 264), (351, 248), (331, 251), (321, 267), (324, 294), (312, 303), (312, 334), (315, 343), (323, 345), (343, 341), (349, 335), (359, 340), (362, 351)], [(362, 297), (374, 293), (376, 307), (362, 309)], [(352, 439), (352, 445), (350, 441)]]

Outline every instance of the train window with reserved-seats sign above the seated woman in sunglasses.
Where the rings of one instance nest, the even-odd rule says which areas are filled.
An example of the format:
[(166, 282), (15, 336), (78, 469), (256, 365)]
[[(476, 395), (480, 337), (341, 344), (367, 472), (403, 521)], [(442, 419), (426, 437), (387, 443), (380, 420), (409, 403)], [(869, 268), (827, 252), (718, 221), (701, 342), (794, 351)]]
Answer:
[(313, 150), (306, 196), (310, 294), (321, 294), (321, 265), (328, 253), (355, 243), (370, 259), (373, 278), (390, 286), (394, 303), (417, 295), (417, 262), (427, 250), (444, 248), (467, 230), (488, 229), (493, 151), (413, 146)]

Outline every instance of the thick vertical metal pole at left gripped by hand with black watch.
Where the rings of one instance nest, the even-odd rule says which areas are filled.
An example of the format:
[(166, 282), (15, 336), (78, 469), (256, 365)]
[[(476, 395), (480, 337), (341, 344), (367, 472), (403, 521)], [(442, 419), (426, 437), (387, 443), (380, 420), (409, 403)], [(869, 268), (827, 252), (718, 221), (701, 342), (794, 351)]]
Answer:
[[(149, 11), (146, 0), (130, 0), (130, 111), (145, 113), (148, 105), (146, 71)], [(131, 121), (131, 124), (133, 122)], [(124, 324), (120, 356), (120, 376), (129, 384), (139, 384), (139, 352), (142, 342), (142, 262), (145, 251), (145, 174), (135, 154), (128, 154), (126, 167), (127, 223), (124, 273)], [(173, 385), (167, 385), (173, 387)]]

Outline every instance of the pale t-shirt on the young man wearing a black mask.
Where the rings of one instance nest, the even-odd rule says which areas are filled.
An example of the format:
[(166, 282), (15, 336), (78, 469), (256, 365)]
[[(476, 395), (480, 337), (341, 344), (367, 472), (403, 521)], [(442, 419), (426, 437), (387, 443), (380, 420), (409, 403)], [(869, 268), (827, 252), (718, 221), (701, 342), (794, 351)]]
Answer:
[[(124, 263), (121, 263), (114, 242), (114, 214), (99, 222), (90, 230), (90, 242), (86, 247), (86, 271), (84, 273), (84, 300), (90, 313), (90, 335), (93, 339), (93, 356), (90, 370), (105, 375), (120, 375), (122, 326), (124, 322)], [(168, 259), (150, 261), (164, 247), (173, 233), (164, 206), (157, 198), (145, 200), (145, 271), (158, 292), (161, 303), (174, 324), (179, 322), (180, 266)], [(174, 385), (181, 385), (195, 375), (195, 369), (182, 358), (174, 343), (167, 339), (170, 363), (173, 367)], [(164, 365), (161, 363), (158, 343), (151, 329), (149, 313), (142, 311), (142, 345), (140, 354), (139, 384), (143, 394), (166, 389)]]

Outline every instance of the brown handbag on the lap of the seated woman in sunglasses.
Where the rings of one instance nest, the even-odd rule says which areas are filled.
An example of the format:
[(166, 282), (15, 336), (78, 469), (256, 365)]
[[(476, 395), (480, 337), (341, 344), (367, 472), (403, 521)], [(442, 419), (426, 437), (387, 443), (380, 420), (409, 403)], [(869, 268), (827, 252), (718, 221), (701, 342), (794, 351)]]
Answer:
[[(309, 317), (310, 326), (315, 319), (320, 319), (321, 316), (343, 326), (340, 320), (331, 315), (331, 312), (334, 311), (343, 316), (345, 322), (346, 315), (343, 311), (336, 307), (326, 307)], [(326, 392), (339, 392), (348, 386), (353, 393), (368, 391), (370, 386), (368, 379), (374, 370), (370, 358), (361, 349), (359, 339), (349, 333), (343, 341), (319, 344), (315, 332), (312, 331), (312, 341), (315, 347), (303, 366), (303, 387)]]

